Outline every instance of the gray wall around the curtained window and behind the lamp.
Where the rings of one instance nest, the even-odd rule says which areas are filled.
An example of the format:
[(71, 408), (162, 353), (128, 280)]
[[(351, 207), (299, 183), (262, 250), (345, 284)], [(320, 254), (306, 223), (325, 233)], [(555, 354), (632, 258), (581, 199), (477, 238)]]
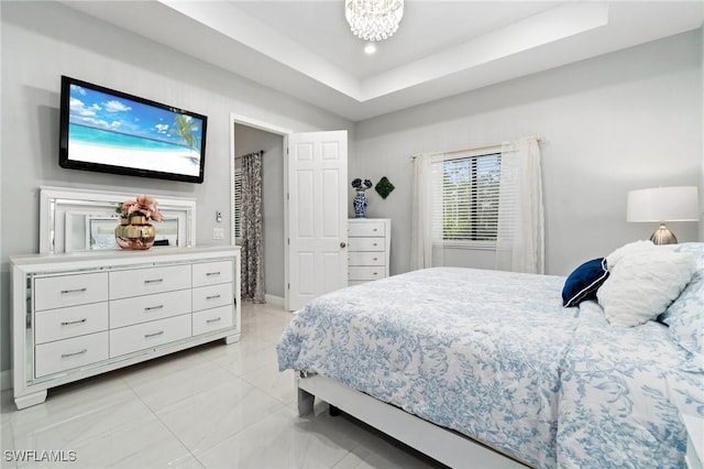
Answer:
[[(701, 47), (701, 31), (685, 33), (358, 122), (350, 175), (396, 186), (386, 200), (367, 193), (367, 216), (393, 220), (392, 274), (409, 270), (409, 155), (526, 135), (544, 139), (547, 273), (647, 239), (657, 226), (626, 222), (628, 190), (703, 184)], [(669, 226), (681, 241), (701, 237), (695, 222)]]

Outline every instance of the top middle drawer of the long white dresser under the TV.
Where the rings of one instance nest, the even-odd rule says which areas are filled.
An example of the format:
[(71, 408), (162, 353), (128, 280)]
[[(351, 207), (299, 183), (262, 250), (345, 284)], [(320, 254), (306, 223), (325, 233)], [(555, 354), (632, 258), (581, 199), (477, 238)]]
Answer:
[(190, 288), (190, 265), (110, 272), (110, 299)]

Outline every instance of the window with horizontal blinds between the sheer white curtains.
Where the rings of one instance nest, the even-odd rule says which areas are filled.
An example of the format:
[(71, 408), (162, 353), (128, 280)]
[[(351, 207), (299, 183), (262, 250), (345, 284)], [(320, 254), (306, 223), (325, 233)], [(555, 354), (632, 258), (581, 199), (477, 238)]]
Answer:
[[(480, 244), (496, 241), (501, 153), (444, 160), (436, 171), (436, 240)], [(441, 182), (441, 183), (440, 183)]]

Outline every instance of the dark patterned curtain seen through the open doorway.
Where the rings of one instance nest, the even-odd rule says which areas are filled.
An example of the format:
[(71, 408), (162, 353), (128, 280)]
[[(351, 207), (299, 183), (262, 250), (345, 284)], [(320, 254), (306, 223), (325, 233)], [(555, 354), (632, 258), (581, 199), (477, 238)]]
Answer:
[(242, 299), (264, 303), (262, 238), (262, 156), (242, 156)]

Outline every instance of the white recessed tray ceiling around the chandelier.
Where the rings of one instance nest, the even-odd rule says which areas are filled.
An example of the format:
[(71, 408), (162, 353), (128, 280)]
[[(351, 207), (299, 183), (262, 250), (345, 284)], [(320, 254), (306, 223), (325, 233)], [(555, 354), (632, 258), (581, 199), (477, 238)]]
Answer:
[(406, 0), (367, 56), (343, 0), (64, 1), (352, 121), (697, 29), (702, 0)]

